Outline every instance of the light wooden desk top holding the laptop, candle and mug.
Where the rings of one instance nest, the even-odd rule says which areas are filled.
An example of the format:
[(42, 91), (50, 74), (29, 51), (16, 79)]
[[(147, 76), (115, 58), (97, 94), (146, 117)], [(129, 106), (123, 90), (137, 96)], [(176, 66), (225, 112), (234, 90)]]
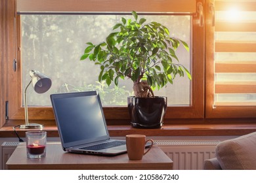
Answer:
[(64, 152), (60, 142), (47, 142), (45, 158), (29, 159), (22, 142), (7, 161), (7, 169), (173, 169), (173, 161), (158, 146), (142, 160), (131, 161), (127, 154), (106, 157)]

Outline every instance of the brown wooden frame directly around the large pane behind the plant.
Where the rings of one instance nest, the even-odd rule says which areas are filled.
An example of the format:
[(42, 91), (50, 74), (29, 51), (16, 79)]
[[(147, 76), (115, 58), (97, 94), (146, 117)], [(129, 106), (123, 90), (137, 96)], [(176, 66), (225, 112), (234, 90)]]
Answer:
[[(203, 1), (202, 1), (203, 3)], [(165, 114), (165, 124), (171, 123), (173, 118), (203, 118), (204, 117), (204, 29), (198, 26), (198, 15), (192, 18), (192, 87), (190, 90), (190, 106), (174, 106), (168, 107)], [(24, 107), (22, 107), (22, 91), (21, 91), (21, 73), (20, 73), (20, 18), (16, 14), (16, 45), (13, 56), (16, 58), (16, 72), (12, 70), (12, 64), (9, 63), (9, 119), (24, 120)], [(195, 26), (196, 25), (196, 26)], [(14, 41), (15, 42), (15, 41)], [(28, 114), (30, 120), (54, 120), (53, 109), (51, 107), (29, 107)], [(127, 107), (104, 107), (106, 120), (110, 124), (119, 121), (119, 124), (129, 123), (129, 112)]]

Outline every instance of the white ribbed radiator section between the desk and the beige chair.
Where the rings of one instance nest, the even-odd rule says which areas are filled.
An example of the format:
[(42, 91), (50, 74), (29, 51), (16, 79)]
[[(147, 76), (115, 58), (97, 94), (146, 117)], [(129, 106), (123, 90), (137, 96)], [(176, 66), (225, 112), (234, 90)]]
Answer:
[(202, 170), (203, 161), (215, 157), (220, 141), (154, 141), (173, 160), (174, 170)]

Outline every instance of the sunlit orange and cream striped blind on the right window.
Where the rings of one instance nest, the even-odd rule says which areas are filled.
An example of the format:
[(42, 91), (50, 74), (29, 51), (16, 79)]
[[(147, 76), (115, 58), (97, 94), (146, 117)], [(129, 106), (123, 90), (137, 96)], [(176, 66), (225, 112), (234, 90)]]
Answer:
[(214, 107), (256, 106), (256, 0), (215, 0)]

